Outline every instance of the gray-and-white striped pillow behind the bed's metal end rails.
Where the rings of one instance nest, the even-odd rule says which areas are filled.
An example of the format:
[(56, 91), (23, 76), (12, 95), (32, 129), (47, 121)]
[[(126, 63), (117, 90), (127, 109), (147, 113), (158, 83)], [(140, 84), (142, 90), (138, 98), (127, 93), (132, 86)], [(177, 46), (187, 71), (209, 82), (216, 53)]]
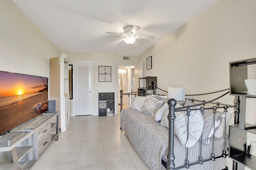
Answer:
[[(222, 118), (224, 118), (225, 116), (226, 116), (225, 112), (216, 111), (215, 131), (218, 129), (218, 127), (222, 123)], [(203, 119), (204, 119), (204, 127), (202, 132), (203, 133), (202, 141), (205, 144), (209, 144), (210, 141), (212, 140), (211, 138), (214, 133), (214, 123), (213, 123), (214, 114), (212, 112), (212, 109), (204, 111)]]

